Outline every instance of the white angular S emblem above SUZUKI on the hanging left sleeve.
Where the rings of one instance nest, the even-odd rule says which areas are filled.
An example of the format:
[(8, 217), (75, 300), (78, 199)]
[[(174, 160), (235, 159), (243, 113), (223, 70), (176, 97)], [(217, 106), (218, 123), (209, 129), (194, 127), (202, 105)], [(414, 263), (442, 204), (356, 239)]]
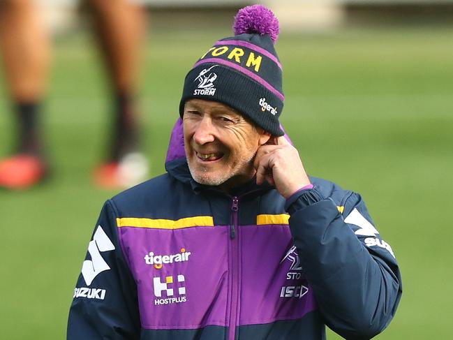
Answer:
[(91, 260), (84, 260), (82, 265), (82, 276), (88, 286), (91, 285), (91, 282), (98, 274), (110, 269), (101, 256), (101, 252), (112, 251), (114, 249), (115, 247), (112, 244), (112, 241), (110, 241), (107, 234), (105, 234), (103, 228), (98, 226), (94, 233), (93, 240), (88, 244), (88, 252), (91, 256)]

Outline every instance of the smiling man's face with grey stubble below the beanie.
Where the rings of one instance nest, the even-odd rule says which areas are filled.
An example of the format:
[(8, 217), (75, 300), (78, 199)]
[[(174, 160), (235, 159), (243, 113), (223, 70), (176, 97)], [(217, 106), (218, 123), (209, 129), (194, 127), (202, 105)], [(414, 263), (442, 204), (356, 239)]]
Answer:
[(270, 138), (228, 105), (202, 99), (187, 101), (183, 127), (193, 179), (225, 191), (255, 175), (253, 158)]

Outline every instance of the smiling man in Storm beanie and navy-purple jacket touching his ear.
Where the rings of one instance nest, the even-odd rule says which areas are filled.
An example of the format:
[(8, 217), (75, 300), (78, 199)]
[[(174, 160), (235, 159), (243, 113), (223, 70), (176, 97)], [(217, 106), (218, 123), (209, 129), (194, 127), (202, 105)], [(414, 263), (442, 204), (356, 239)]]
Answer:
[(392, 249), (279, 126), (276, 25), (243, 8), (189, 71), (167, 173), (103, 207), (68, 339), (370, 339), (389, 324)]

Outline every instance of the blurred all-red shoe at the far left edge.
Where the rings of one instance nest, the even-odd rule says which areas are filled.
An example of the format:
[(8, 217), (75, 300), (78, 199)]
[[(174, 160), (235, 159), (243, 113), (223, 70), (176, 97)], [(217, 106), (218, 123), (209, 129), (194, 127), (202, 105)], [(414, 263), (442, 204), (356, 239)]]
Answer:
[(0, 161), (0, 188), (29, 189), (45, 179), (47, 166), (37, 157), (17, 154)]

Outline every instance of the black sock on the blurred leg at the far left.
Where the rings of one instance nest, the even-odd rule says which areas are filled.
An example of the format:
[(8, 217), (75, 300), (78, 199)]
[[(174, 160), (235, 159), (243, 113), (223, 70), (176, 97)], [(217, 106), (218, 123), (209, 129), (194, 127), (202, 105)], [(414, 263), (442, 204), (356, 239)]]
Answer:
[(17, 153), (34, 154), (42, 152), (39, 126), (40, 104), (38, 102), (17, 103)]

